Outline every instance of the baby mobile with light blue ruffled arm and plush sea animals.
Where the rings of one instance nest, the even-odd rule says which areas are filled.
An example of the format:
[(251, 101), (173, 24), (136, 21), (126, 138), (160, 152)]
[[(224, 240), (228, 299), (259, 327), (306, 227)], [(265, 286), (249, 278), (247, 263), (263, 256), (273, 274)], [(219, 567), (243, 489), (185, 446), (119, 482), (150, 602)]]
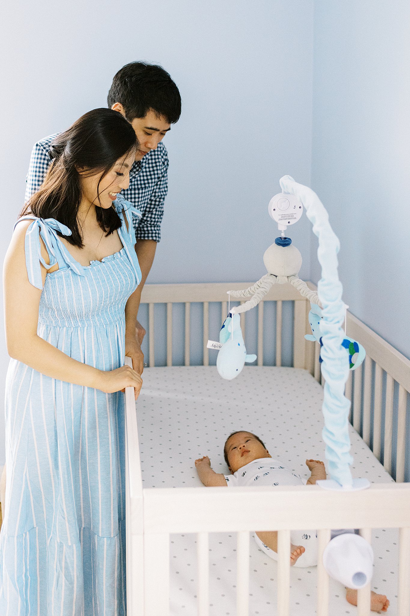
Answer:
[[(256, 355), (247, 355), (240, 328), (240, 313), (251, 310), (261, 301), (274, 284), (290, 283), (310, 301), (309, 323), (312, 334), (305, 338), (320, 344), (321, 372), (325, 378), (323, 394), (325, 456), (331, 479), (319, 481), (326, 490), (363, 490), (369, 487), (367, 479), (353, 479), (350, 466), (353, 458), (349, 453), (349, 408), (344, 396), (349, 370), (358, 368), (365, 359), (365, 349), (359, 342), (346, 335), (346, 311), (342, 301), (342, 285), (337, 273), (337, 253), (340, 244), (329, 224), (328, 213), (310, 188), (298, 184), (290, 176), (280, 179), (282, 193), (269, 203), (270, 217), (277, 222), (280, 237), (267, 248), (263, 261), (267, 274), (258, 282), (242, 291), (228, 291), (229, 309), (221, 331), (219, 344), (211, 342), (210, 348), (219, 349), (216, 367), (224, 379), (234, 379), (240, 374), (245, 362), (254, 362)], [(288, 226), (295, 224), (303, 209), (313, 225), (313, 233), (319, 240), (318, 261), (321, 279), (317, 293), (309, 289), (298, 276), (302, 257), (290, 238), (285, 237)], [(230, 306), (232, 298), (246, 299), (241, 306)], [(345, 325), (346, 326), (346, 325)], [(342, 547), (343, 546), (343, 547)], [(349, 548), (349, 549), (347, 549)], [(345, 554), (349, 552), (348, 559)], [(362, 537), (347, 533), (333, 538), (323, 557), (329, 575), (350, 588), (363, 588), (371, 578), (373, 550)], [(363, 575), (357, 575), (358, 567)], [(360, 579), (360, 583), (354, 580)]]

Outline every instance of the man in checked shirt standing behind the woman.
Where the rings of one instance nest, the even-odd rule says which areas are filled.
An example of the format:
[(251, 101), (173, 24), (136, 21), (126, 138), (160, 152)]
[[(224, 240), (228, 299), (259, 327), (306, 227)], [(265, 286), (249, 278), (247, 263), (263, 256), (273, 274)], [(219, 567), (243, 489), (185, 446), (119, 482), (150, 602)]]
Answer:
[[(130, 62), (114, 76), (107, 101), (108, 107), (119, 111), (132, 124), (140, 143), (140, 150), (130, 170), (130, 185), (121, 193), (142, 213), (141, 220), (134, 219), (135, 251), (142, 274), (141, 283), (133, 295), (136, 315), (141, 291), (160, 241), (160, 224), (168, 190), (168, 155), (161, 141), (170, 131), (171, 124), (179, 120), (181, 96), (164, 68), (145, 62)], [(42, 184), (51, 163), (50, 144), (55, 137), (45, 137), (34, 145), (26, 180), (25, 201)], [(143, 371), (141, 342), (144, 335), (143, 326), (136, 321), (135, 344), (138, 346), (140, 361), (134, 368), (139, 373)]]

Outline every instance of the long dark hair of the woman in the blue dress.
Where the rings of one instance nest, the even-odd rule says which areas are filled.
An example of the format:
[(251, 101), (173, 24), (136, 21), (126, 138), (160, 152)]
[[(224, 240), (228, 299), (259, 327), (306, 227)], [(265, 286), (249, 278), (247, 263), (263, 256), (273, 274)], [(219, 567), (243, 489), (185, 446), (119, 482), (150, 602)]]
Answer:
[[(73, 126), (53, 140), (50, 149), (52, 164), (38, 192), (27, 201), (20, 216), (55, 218), (70, 230), (66, 240), (82, 248), (82, 235), (77, 213), (82, 201), (80, 176), (101, 172), (100, 182), (117, 160), (138, 148), (131, 124), (111, 109), (94, 109), (85, 113)], [(100, 197), (98, 195), (98, 200)], [(121, 226), (114, 207), (96, 208), (97, 221), (107, 235)]]

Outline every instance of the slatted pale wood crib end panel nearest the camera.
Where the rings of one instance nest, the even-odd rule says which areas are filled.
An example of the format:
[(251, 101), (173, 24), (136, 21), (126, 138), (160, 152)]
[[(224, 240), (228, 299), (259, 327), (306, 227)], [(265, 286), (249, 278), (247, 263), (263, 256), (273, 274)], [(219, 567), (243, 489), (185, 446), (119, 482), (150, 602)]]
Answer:
[[(164, 508), (164, 503), (167, 507)], [(251, 506), (250, 506), (251, 503)], [(337, 493), (316, 486), (269, 488), (173, 488), (144, 490), (146, 542), (145, 616), (169, 611), (170, 533), (197, 533), (198, 614), (208, 615), (208, 532), (237, 532), (237, 615), (248, 615), (249, 532), (278, 530), (278, 616), (288, 616), (290, 530), (318, 529), (317, 614), (328, 616), (329, 579), (321, 556), (330, 528), (357, 528), (366, 540), (380, 526), (400, 530), (398, 616), (410, 613), (410, 485), (380, 484), (363, 492)], [(223, 512), (223, 515), (221, 515)], [(152, 549), (148, 552), (147, 547)], [(154, 556), (153, 556), (154, 554)], [(150, 573), (151, 572), (151, 573)], [(147, 579), (148, 576), (148, 579)], [(156, 592), (153, 592), (154, 589)], [(158, 589), (161, 589), (158, 592)], [(358, 614), (370, 614), (370, 586), (359, 592)]]

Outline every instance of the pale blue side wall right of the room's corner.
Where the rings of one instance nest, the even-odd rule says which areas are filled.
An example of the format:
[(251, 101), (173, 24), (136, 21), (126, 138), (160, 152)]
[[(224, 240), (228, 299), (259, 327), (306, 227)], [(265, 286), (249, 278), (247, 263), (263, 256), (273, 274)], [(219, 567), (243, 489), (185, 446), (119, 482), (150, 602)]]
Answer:
[(341, 240), (345, 302), (410, 358), (409, 104), (408, 0), (315, 2), (312, 188)]

